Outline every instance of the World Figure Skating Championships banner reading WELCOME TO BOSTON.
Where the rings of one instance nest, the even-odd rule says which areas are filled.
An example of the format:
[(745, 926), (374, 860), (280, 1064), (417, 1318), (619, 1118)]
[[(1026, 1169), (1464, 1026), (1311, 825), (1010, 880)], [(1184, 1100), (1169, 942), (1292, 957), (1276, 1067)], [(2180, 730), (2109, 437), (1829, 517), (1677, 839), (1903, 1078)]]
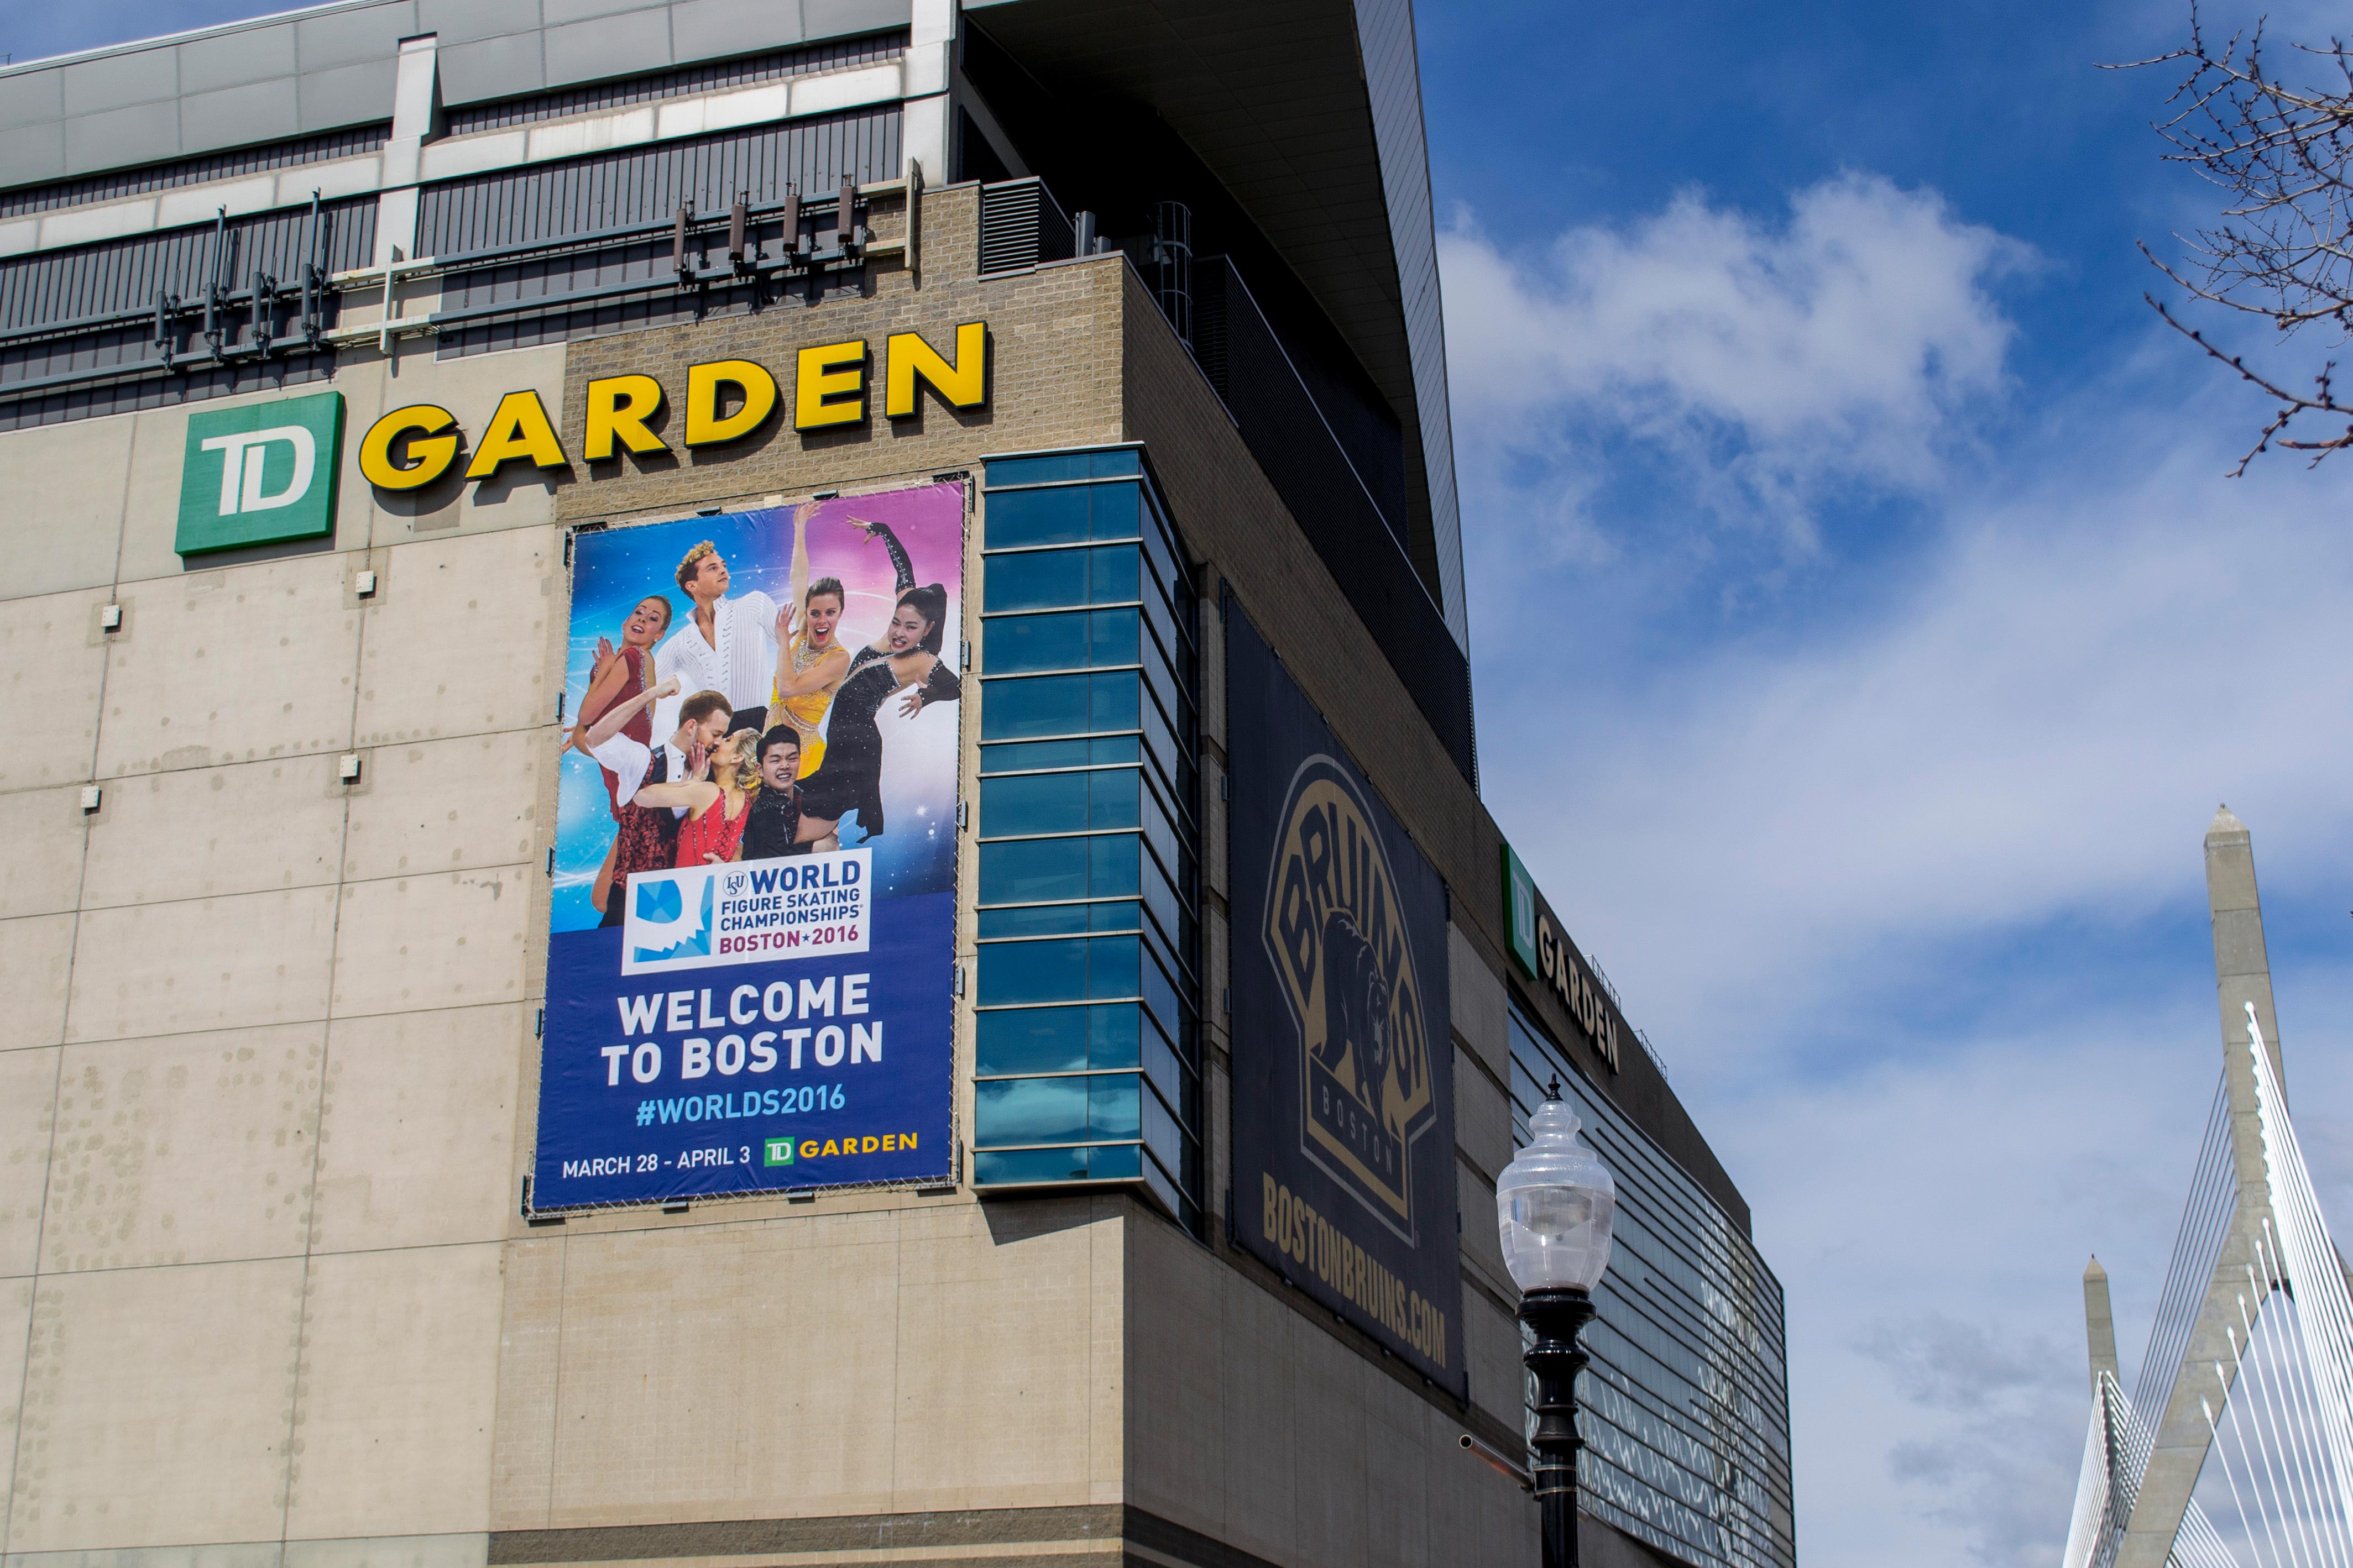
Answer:
[(953, 1168), (965, 487), (574, 543), (532, 1208)]

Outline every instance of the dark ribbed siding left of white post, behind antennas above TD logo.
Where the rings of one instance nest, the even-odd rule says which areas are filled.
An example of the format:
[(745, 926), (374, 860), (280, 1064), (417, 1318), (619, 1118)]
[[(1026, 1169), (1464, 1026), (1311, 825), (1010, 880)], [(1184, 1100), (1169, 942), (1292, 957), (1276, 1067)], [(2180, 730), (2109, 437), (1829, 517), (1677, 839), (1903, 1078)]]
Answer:
[[(308, 256), (308, 209), (233, 219), (221, 233), (219, 277), (224, 289), (249, 287), (259, 266), (280, 284), (301, 277)], [(376, 202), (358, 197), (320, 209), (327, 230), (327, 270), (367, 266), (376, 244)], [(313, 381), (332, 369), (332, 355), (278, 357), (266, 367), (212, 367), (144, 378), (92, 381), (12, 397), (9, 386), (68, 371), (144, 367), (158, 360), (148, 315), (155, 292), (202, 299), (214, 277), (214, 230), (174, 228), (160, 235), (111, 240), (68, 252), (40, 252), (0, 261), (0, 430), (92, 418), (129, 409), (153, 409), (195, 397), (252, 390), (254, 386)], [(334, 324), (334, 299), (322, 301)], [(275, 313), (285, 334), (287, 308)], [(249, 308), (231, 308), (219, 327), (224, 346), (242, 343)], [(16, 336), (24, 334), (24, 336)], [(200, 339), (181, 322), (184, 355), (200, 353)]]

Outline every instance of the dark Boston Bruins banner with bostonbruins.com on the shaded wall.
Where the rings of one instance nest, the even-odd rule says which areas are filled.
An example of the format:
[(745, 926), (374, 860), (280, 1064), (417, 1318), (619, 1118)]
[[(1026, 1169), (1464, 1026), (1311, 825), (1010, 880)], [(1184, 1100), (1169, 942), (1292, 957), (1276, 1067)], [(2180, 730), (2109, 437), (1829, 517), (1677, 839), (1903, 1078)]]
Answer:
[(1240, 607), (1226, 745), (1235, 1229), (1461, 1399), (1445, 884)]

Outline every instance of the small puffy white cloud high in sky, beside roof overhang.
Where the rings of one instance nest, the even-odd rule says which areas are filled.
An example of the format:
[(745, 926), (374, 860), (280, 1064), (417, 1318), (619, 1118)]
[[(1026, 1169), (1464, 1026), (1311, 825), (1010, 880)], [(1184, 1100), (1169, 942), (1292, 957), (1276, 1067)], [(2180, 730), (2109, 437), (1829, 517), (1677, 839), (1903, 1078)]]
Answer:
[(1685, 193), (1527, 254), (1459, 216), (1440, 237), (1457, 428), (1473, 468), (1624, 430), (1713, 510), (1802, 536), (1826, 487), (1937, 480), (1953, 416), (2002, 386), (1988, 284), (2031, 256), (1868, 174), (1800, 190), (1779, 223)]

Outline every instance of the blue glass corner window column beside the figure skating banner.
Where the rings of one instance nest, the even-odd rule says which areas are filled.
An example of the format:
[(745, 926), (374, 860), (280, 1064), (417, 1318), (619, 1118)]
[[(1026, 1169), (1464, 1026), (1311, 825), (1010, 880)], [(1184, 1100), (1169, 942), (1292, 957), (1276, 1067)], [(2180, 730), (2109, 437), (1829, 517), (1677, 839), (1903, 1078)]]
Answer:
[(981, 503), (976, 1187), (1144, 1182), (1200, 1227), (1195, 599), (1134, 449)]

